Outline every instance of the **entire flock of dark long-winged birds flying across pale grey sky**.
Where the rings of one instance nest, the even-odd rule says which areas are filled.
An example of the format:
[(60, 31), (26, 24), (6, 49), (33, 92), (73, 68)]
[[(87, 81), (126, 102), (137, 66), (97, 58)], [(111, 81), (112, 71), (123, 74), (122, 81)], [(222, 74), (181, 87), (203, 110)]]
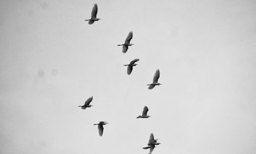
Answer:
[[(94, 21), (99, 21), (100, 20), (100, 18), (97, 18), (97, 12), (98, 12), (98, 6), (97, 6), (97, 4), (94, 4), (92, 14), (91, 14), (91, 19), (86, 20), (86, 21), (88, 21), (89, 24), (93, 24)], [(124, 43), (117, 45), (117, 46), (122, 46), (122, 52), (123, 53), (127, 52), (129, 46), (134, 45), (134, 44), (130, 43), (132, 38), (133, 38), (133, 32), (130, 32), (128, 34), (128, 36), (126, 37)], [(132, 73), (133, 67), (138, 65), (138, 64), (135, 64), (138, 61), (139, 61), (139, 59), (134, 59), (133, 61), (130, 62), (130, 64), (124, 65), (124, 66), (127, 66), (127, 74), (128, 75), (130, 75)], [(158, 83), (159, 76), (160, 76), (160, 71), (159, 71), (159, 69), (157, 69), (156, 72), (155, 72), (154, 78), (153, 78), (153, 83), (147, 85), (148, 89), (153, 89), (155, 86), (161, 85), (160, 83)], [(78, 107), (81, 107), (81, 109), (83, 109), (83, 110), (86, 109), (86, 108), (91, 108), (92, 105), (90, 105), (90, 103), (92, 102), (92, 100), (93, 100), (93, 96), (88, 98), (86, 100), (86, 102), (84, 102), (83, 106), (78, 106)], [(148, 111), (148, 108), (145, 106), (144, 109), (143, 109), (142, 115), (138, 116), (137, 118), (151, 117), (151, 116), (147, 115), (147, 111)], [(99, 136), (103, 135), (103, 129), (104, 129), (103, 125), (106, 125), (106, 124), (108, 124), (108, 122), (105, 122), (105, 121), (100, 121), (99, 123), (93, 124), (93, 125), (98, 125)], [(153, 133), (151, 133), (150, 140), (148, 140), (147, 146), (143, 147), (143, 149), (148, 149), (149, 148), (150, 153), (151, 153), (156, 145), (161, 144), (161, 143), (158, 143), (157, 140), (158, 139), (154, 139), (154, 135), (153, 135)]]

